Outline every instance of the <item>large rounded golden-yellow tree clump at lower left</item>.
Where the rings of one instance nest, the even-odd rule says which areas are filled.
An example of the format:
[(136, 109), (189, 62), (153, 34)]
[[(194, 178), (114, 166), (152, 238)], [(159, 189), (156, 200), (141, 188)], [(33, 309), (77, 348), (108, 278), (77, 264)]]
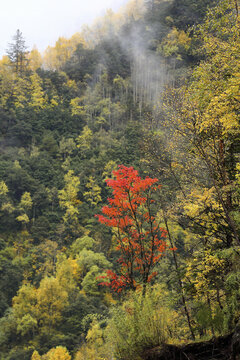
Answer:
[(76, 286), (77, 268), (76, 261), (66, 260), (58, 265), (56, 277), (46, 276), (38, 288), (25, 284), (19, 289), (13, 298), (12, 312), (17, 333), (32, 339), (39, 333), (55, 332)]

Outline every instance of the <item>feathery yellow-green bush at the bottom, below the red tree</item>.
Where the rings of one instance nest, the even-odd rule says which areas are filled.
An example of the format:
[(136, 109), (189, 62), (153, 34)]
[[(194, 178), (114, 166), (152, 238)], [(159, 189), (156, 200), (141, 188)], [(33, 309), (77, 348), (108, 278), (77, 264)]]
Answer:
[(141, 359), (143, 351), (162, 346), (175, 336), (177, 314), (167, 307), (166, 295), (155, 287), (145, 297), (134, 293), (112, 310), (108, 341), (118, 359)]

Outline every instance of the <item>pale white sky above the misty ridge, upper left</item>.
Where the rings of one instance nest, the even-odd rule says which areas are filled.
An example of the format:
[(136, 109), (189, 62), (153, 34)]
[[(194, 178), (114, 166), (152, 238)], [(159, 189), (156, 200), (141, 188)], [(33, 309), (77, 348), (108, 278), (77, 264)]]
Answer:
[(19, 29), (28, 50), (34, 45), (42, 52), (60, 36), (71, 37), (82, 25), (117, 11), (128, 0), (0, 0), (0, 57)]

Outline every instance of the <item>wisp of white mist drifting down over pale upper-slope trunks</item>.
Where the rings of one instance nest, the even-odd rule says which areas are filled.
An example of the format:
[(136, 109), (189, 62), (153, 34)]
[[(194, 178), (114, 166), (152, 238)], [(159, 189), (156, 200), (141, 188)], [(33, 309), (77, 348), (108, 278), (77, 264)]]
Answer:
[[(142, 16), (146, 11), (145, 8)], [(152, 33), (157, 31), (154, 26), (149, 33), (147, 25), (135, 20), (134, 14), (128, 16), (129, 19), (119, 29), (113, 31), (110, 26), (109, 33), (102, 40), (110, 43), (117, 41), (126, 54), (130, 63), (134, 102), (139, 103), (140, 108), (143, 102), (156, 106), (159, 105), (164, 86), (172, 80), (169, 66), (152, 44)], [(158, 23), (158, 30), (159, 27), (164, 28), (164, 32), (168, 31), (166, 25)], [(101, 44), (101, 40), (99, 42)], [(104, 53), (99, 63), (107, 66), (107, 59), (108, 54)]]

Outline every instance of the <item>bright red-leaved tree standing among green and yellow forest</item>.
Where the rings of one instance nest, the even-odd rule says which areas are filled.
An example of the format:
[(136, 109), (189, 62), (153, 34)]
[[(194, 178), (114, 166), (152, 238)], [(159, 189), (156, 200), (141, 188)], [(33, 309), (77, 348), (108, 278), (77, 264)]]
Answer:
[(101, 284), (118, 292), (123, 287), (135, 290), (142, 284), (145, 292), (146, 284), (156, 275), (153, 268), (167, 248), (166, 231), (156, 219), (153, 200), (158, 179), (142, 179), (133, 167), (123, 165), (113, 175), (114, 179), (106, 180), (113, 197), (102, 208), (103, 215), (97, 217), (114, 230), (120, 271), (116, 274), (108, 270)]

